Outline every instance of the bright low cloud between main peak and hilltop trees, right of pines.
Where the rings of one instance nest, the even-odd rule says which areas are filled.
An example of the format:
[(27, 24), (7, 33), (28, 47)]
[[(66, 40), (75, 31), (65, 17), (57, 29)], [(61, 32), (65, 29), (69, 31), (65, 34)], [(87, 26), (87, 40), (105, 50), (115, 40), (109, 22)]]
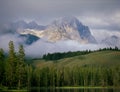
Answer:
[(97, 50), (104, 47), (104, 45), (98, 44), (80, 44), (73, 40), (58, 41), (56, 43), (49, 43), (43, 40), (39, 40), (32, 45), (26, 47), (25, 50), (28, 56), (41, 57), (42, 55), (47, 53)]

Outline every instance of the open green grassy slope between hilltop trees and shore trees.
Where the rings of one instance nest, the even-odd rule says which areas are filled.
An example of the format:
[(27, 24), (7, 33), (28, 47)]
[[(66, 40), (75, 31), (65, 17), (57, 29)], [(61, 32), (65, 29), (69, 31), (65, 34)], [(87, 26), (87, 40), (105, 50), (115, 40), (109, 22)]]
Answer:
[(99, 51), (86, 55), (64, 58), (57, 61), (34, 60), (33, 65), (38, 68), (43, 67), (76, 67), (76, 66), (112, 66), (120, 65), (120, 51)]

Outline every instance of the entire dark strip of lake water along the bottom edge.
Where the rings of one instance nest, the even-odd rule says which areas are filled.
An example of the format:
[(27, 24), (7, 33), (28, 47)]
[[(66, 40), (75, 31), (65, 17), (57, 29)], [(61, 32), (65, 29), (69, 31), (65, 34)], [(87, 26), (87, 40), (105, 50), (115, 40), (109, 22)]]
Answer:
[[(27, 92), (27, 91), (0, 91)], [(28, 92), (120, 92), (120, 88), (34, 88)]]

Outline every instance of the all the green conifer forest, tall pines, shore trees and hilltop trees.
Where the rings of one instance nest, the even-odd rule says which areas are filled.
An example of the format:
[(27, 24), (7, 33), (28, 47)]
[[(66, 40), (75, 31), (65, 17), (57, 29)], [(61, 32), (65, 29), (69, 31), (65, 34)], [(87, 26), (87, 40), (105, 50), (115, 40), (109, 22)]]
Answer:
[[(119, 51), (114, 49), (100, 49)], [(94, 53), (94, 51), (54, 53), (44, 55), (43, 59), (58, 60), (76, 55), (85, 55)], [(28, 62), (28, 61), (27, 61)], [(51, 67), (37, 68), (27, 63), (25, 51), (22, 45), (16, 52), (13, 41), (9, 42), (9, 52), (6, 55), (3, 49), (0, 49), (0, 88), (31, 88), (31, 87), (64, 87), (64, 86), (120, 86), (120, 66), (76, 66), (60, 67), (53, 65)], [(56, 62), (55, 62), (56, 63)]]

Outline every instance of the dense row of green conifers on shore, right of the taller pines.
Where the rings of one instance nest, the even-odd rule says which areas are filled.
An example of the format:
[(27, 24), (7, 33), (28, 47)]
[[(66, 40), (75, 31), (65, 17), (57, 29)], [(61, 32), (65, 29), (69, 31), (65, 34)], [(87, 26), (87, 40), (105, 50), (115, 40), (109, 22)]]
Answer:
[(32, 86), (120, 86), (120, 67), (61, 67), (36, 69)]

